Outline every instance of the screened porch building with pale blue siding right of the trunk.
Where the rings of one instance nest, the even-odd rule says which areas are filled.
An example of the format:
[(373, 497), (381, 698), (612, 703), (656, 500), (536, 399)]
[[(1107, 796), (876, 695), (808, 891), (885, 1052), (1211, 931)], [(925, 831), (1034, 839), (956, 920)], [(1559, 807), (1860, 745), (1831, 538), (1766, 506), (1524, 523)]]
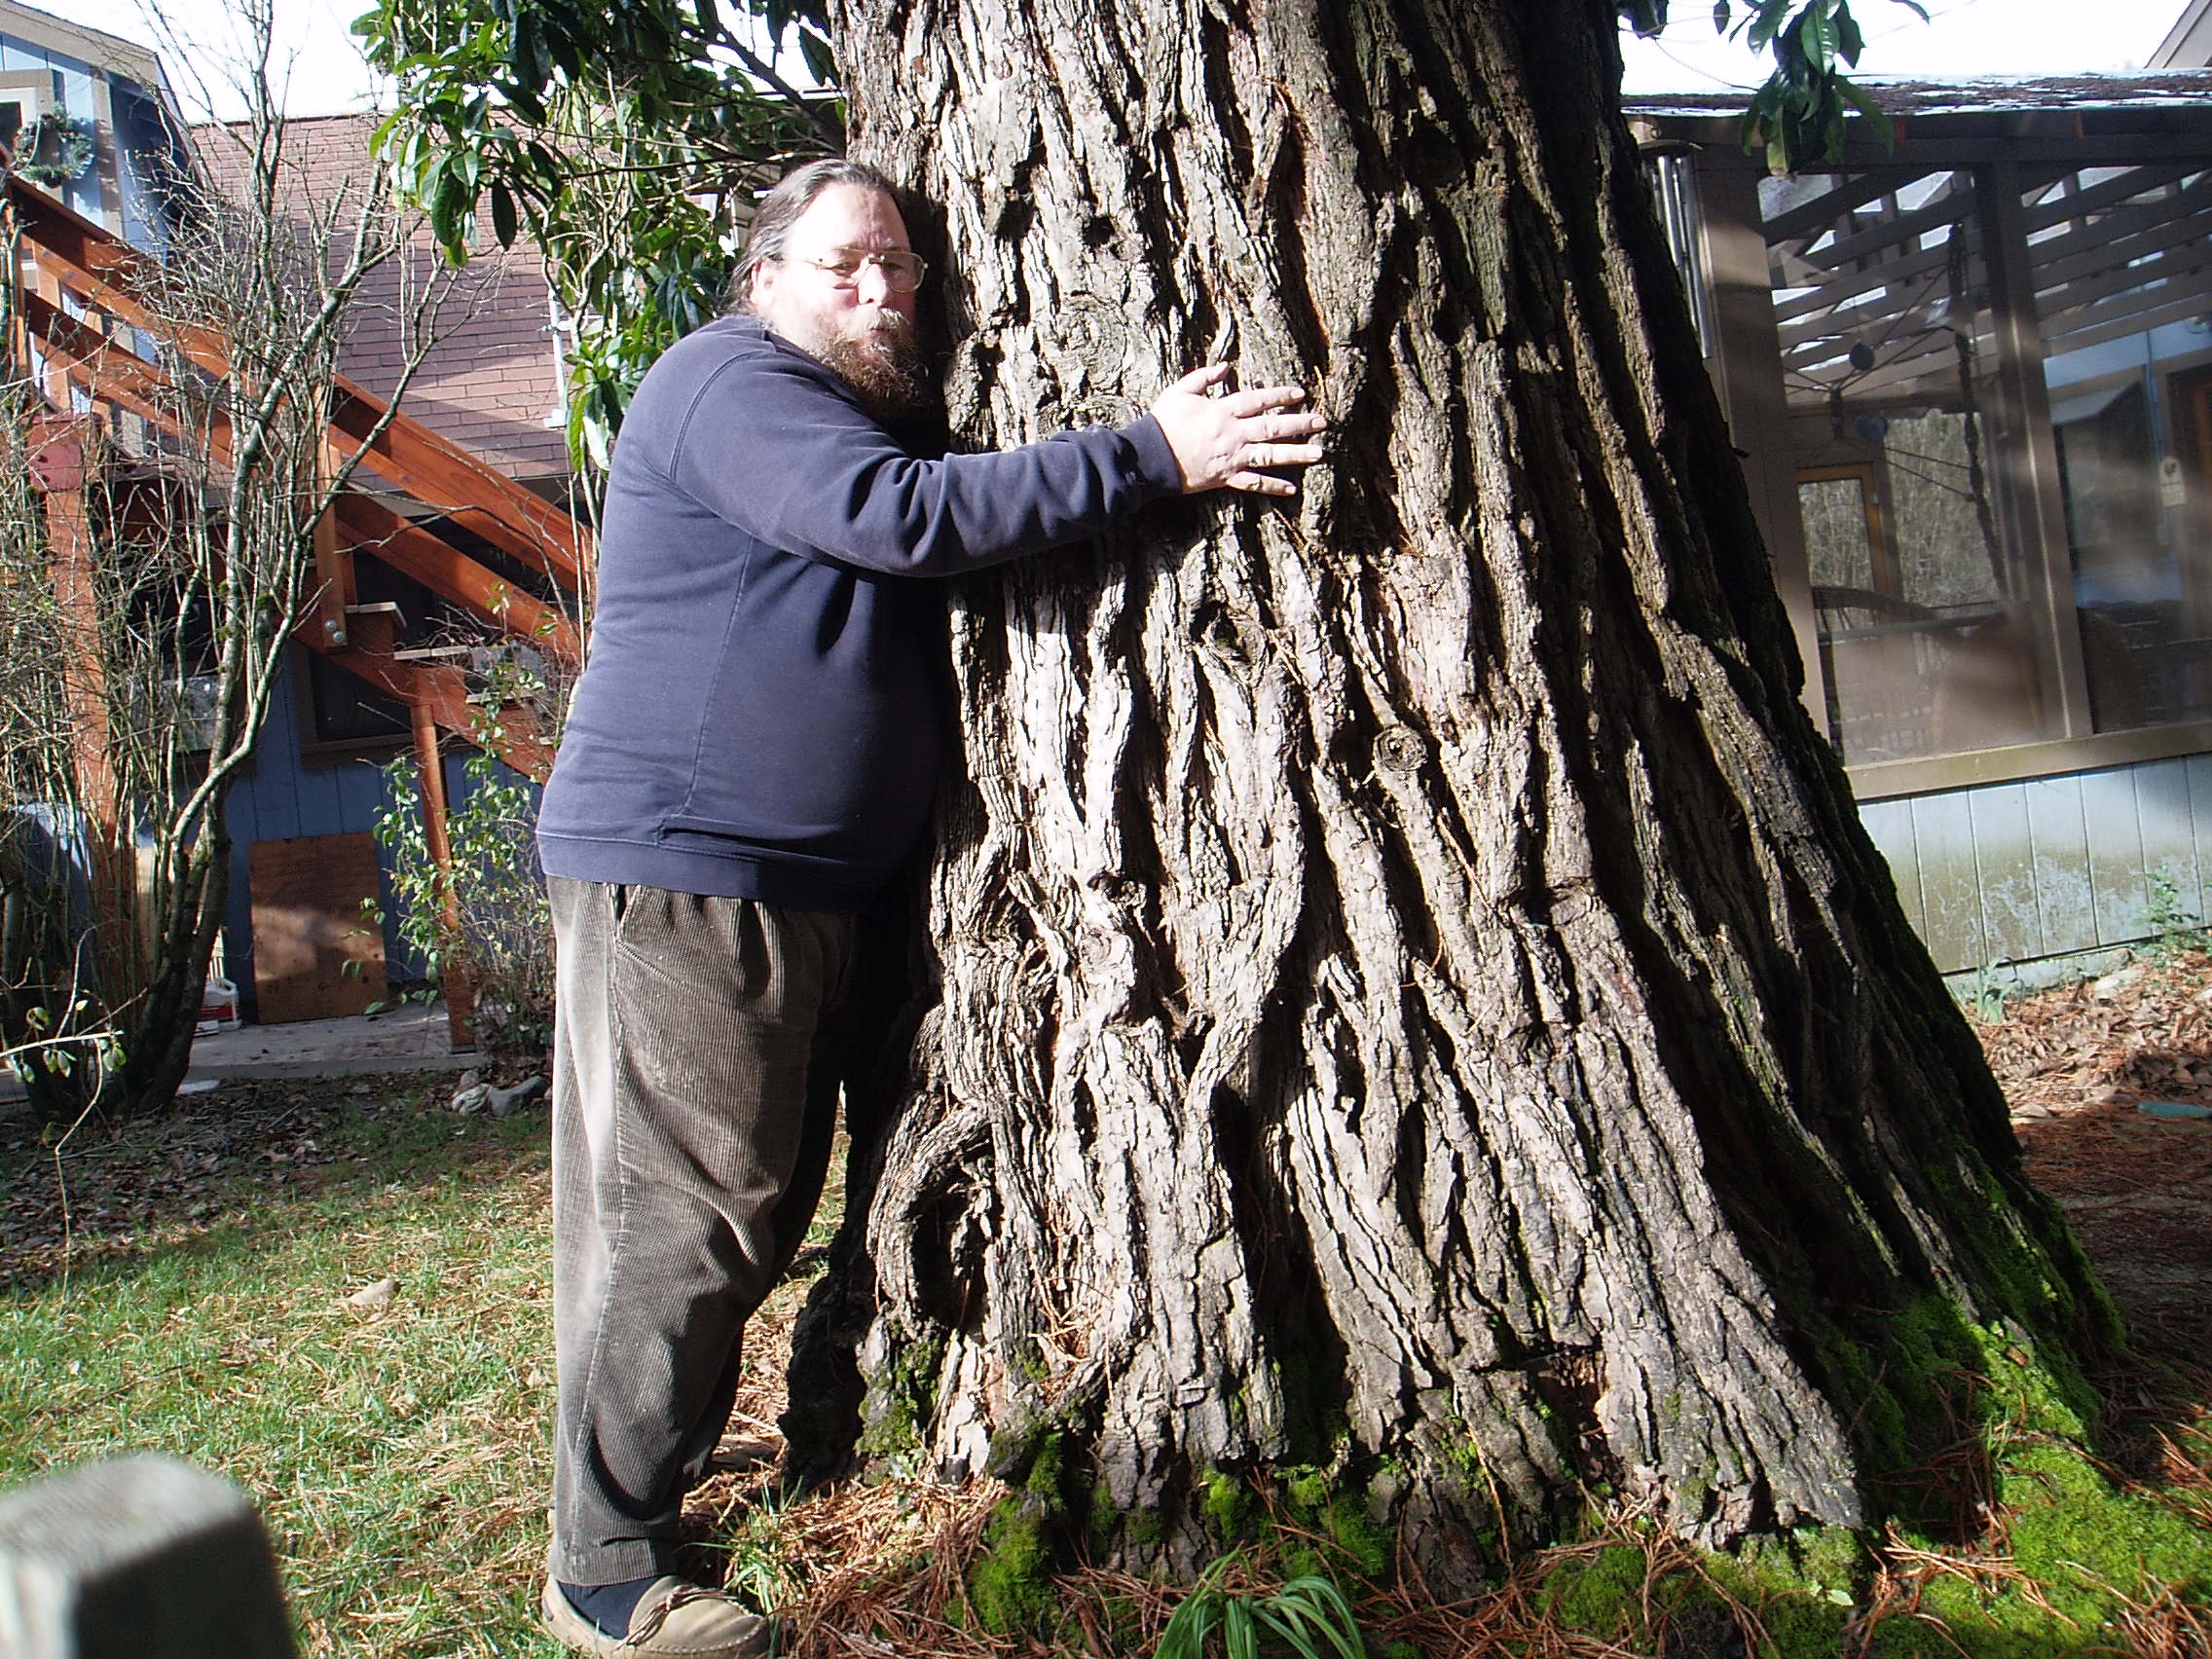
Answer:
[(1905, 909), (2046, 978), (2212, 916), (2212, 75), (1876, 95), (1787, 179), (1630, 117)]

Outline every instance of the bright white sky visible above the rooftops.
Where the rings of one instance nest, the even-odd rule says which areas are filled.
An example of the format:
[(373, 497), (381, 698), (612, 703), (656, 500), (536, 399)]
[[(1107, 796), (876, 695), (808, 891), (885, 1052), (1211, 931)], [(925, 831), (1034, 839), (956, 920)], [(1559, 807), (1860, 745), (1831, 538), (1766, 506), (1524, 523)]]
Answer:
[[(177, 51), (168, 51), (148, 22), (142, 0), (33, 0), (71, 22), (126, 40), (164, 46), (170, 84), (188, 113), (199, 97)], [(234, 35), (237, 7), (228, 0), (161, 0), (166, 13), (201, 51), (190, 60), (215, 62)], [(285, 108), (292, 115), (336, 115), (363, 108), (372, 84), (354, 51), (347, 22), (369, 0), (274, 0)], [(1929, 0), (1931, 22), (1920, 22), (1898, 0), (1854, 0), (1867, 35), (1860, 75), (1960, 80), (1969, 75), (2077, 75), (2137, 69), (2181, 15), (2183, 0)], [(1721, 91), (1754, 86), (1763, 71), (1741, 46), (1714, 35), (1708, 0), (1674, 0), (1674, 22), (1657, 42), (1626, 40), (1626, 86), (1632, 93)], [(1739, 0), (1741, 11), (1741, 0)], [(237, 115), (237, 102), (215, 93), (217, 113)]]

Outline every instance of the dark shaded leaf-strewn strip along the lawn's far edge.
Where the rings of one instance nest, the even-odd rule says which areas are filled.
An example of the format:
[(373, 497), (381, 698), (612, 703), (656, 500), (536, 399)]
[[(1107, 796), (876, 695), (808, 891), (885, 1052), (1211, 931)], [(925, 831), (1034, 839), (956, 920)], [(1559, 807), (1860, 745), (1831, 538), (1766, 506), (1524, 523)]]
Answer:
[[(168, 1113), (62, 1137), (0, 1124), (0, 1296), (115, 1283), (177, 1252), (259, 1248), (334, 1214), (549, 1168), (542, 1104), (507, 1121), (447, 1108), (451, 1077), (232, 1082)], [(60, 1141), (60, 1157), (55, 1157)]]

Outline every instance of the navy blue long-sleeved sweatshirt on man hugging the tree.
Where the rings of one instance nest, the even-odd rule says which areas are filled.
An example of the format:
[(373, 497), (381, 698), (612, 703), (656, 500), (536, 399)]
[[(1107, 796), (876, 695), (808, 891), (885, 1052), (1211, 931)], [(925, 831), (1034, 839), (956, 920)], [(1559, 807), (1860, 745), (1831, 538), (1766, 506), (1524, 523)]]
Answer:
[(752, 316), (653, 365), (615, 445), (591, 661), (538, 818), (549, 874), (856, 909), (942, 763), (942, 591), (1181, 487), (1146, 416), (916, 453)]

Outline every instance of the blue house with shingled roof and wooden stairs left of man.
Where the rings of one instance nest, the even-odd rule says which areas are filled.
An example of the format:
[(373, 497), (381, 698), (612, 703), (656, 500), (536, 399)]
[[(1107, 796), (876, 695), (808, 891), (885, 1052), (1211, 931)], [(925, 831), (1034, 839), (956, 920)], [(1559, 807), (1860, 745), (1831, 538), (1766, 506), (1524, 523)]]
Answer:
[[(93, 414), (122, 465), (159, 473), (153, 403), (126, 387), (144, 372), (133, 345), (128, 270), (161, 259), (179, 177), (237, 177), (239, 133), (186, 131), (159, 64), (131, 42), (62, 24), (0, 0), (0, 128), (20, 111), (62, 108), (93, 144), (69, 179), (7, 186), (20, 230), (22, 343), (49, 400)], [(369, 173), (372, 117), (288, 122), (283, 195), (301, 219), (312, 204), (358, 199)], [(22, 128), (18, 128), (22, 131)], [(349, 314), (341, 369), (347, 392), (332, 445), (358, 442), (398, 376), (403, 296), (438, 272), (427, 234), (376, 274)], [(319, 538), (312, 615), (294, 635), (272, 719), (230, 796), (232, 885), (226, 967), (263, 1018), (312, 1018), (383, 995), (383, 962), (405, 978), (392, 920), (389, 856), (369, 830), (387, 805), (380, 765), (438, 730), (467, 739), (476, 710), (465, 668), (489, 655), (573, 650), (557, 613), (577, 586), (584, 540), (562, 511), (560, 349), (535, 257), (487, 250), (438, 312), (438, 341), (407, 392), (405, 414), (369, 447), (341, 511)], [(102, 367), (104, 365), (104, 367)], [(137, 460), (133, 460), (137, 458)], [(553, 602), (553, 604), (549, 604)], [(504, 644), (502, 644), (504, 641)], [(524, 768), (544, 745), (509, 721)], [(447, 745), (447, 794), (465, 787)], [(361, 905), (387, 914), (383, 949), (363, 947)], [(374, 958), (374, 975), (343, 971)]]

